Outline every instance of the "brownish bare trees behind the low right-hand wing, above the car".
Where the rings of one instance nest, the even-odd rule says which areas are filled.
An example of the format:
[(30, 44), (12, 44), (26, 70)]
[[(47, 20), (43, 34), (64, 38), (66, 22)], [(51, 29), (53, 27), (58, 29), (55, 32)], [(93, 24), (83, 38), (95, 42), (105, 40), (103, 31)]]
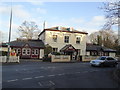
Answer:
[(93, 44), (115, 49), (117, 35), (112, 30), (100, 30), (90, 34), (90, 41)]

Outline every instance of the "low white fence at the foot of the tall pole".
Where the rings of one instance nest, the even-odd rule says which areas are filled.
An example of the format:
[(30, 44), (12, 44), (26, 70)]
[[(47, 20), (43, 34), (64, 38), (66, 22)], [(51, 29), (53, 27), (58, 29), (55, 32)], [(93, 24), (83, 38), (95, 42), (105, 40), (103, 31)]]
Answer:
[[(7, 62), (7, 56), (0, 56), (0, 62)], [(8, 62), (20, 62), (19, 56), (10, 56)]]

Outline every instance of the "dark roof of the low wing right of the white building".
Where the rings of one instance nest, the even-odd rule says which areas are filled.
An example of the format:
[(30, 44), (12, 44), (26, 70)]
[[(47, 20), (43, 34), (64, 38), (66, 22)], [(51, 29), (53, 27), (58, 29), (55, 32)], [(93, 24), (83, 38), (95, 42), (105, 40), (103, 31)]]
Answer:
[(86, 45), (86, 51), (100, 51), (100, 50), (103, 50), (105, 52), (116, 52), (116, 50), (106, 48), (106, 47), (102, 47), (102, 46), (99, 46), (99, 45), (93, 45), (93, 44), (87, 44)]

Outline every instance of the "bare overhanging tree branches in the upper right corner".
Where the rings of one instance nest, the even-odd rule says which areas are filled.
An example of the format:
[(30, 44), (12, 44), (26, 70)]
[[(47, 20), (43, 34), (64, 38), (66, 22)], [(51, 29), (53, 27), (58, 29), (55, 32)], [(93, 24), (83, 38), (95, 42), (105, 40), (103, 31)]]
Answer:
[(106, 12), (106, 23), (102, 30), (110, 30), (113, 25), (118, 26), (118, 44), (120, 45), (120, 1), (106, 2), (102, 8)]

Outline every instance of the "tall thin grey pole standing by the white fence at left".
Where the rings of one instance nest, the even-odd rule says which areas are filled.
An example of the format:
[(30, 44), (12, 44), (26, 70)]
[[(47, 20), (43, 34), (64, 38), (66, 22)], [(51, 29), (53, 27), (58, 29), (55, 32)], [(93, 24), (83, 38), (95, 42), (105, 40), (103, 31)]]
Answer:
[(10, 39), (11, 39), (11, 26), (12, 26), (12, 8), (11, 8), (11, 14), (10, 14), (10, 28), (9, 28), (9, 38), (8, 38), (8, 54), (7, 54), (7, 61), (9, 61), (10, 57)]

